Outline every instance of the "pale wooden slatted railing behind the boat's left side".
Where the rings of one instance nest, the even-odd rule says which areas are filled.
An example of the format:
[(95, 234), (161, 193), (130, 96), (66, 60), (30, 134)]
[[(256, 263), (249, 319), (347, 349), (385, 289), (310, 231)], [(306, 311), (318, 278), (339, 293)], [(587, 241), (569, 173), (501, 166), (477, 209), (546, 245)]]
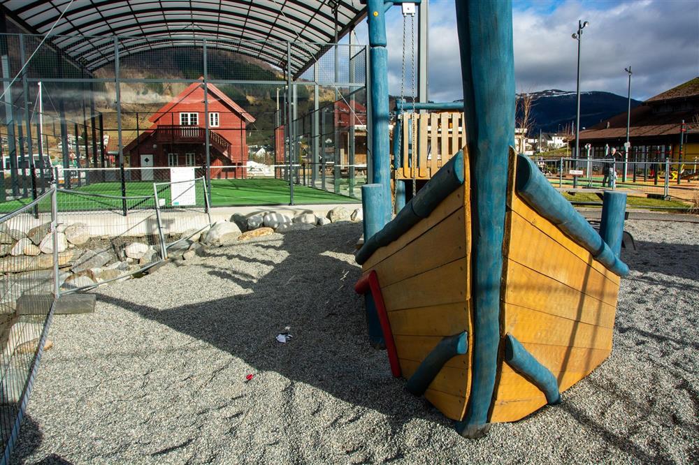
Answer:
[(394, 179), (431, 179), (466, 145), (463, 113), (403, 113), (399, 124), (401, 168)]

